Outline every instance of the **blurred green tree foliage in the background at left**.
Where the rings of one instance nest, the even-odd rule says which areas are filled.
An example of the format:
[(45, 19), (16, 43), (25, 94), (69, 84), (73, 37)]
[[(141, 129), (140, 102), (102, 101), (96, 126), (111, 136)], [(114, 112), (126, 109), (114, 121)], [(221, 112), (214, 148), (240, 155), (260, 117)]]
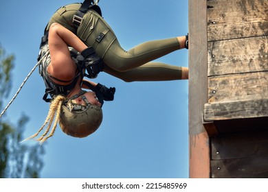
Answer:
[[(5, 55), (0, 45), (0, 109), (3, 99), (7, 98), (12, 85), (11, 71), (14, 68), (14, 56)], [(16, 125), (7, 117), (0, 119), (0, 178), (38, 178), (43, 168), (43, 145), (19, 143), (23, 139), (25, 124), (29, 121), (21, 115)]]

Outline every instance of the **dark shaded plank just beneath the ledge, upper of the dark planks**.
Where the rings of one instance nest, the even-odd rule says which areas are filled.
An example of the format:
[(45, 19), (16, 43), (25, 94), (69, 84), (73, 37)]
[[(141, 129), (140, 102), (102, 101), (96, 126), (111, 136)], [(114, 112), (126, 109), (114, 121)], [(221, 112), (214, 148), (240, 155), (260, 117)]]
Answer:
[(212, 160), (268, 158), (268, 132), (222, 134), (211, 139), (211, 146)]

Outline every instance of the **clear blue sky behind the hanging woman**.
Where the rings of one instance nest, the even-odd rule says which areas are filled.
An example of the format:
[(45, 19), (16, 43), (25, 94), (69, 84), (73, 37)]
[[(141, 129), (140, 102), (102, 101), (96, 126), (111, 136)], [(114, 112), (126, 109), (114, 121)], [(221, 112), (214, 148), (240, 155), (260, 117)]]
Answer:
[[(36, 64), (50, 16), (61, 5), (74, 2), (1, 2), (0, 43), (16, 57), (12, 91), (4, 106)], [(99, 5), (126, 50), (148, 40), (188, 33), (187, 0), (101, 0)], [(175, 51), (157, 61), (188, 67), (188, 51)], [(44, 144), (41, 177), (188, 178), (188, 81), (126, 83), (105, 73), (96, 81), (117, 88), (115, 100), (102, 108), (101, 127), (84, 139), (67, 136), (58, 127)], [(34, 134), (47, 117), (44, 91), (36, 69), (5, 113), (12, 123), (22, 113), (30, 117), (25, 137)]]

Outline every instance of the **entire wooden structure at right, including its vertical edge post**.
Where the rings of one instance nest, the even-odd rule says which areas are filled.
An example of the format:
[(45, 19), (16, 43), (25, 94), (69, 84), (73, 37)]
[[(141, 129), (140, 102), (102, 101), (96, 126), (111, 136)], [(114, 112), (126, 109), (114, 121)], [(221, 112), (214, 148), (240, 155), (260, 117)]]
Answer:
[(189, 36), (190, 178), (268, 178), (268, 1), (189, 0)]

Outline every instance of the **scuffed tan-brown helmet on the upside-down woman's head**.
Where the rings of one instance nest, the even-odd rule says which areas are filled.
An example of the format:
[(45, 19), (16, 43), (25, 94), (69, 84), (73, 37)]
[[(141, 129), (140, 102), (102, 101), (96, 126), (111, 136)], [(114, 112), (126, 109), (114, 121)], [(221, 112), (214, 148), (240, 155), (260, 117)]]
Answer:
[(100, 127), (102, 123), (102, 108), (91, 105), (87, 98), (82, 95), (87, 106), (72, 104), (71, 110), (63, 105), (60, 113), (60, 128), (70, 136), (86, 137)]

